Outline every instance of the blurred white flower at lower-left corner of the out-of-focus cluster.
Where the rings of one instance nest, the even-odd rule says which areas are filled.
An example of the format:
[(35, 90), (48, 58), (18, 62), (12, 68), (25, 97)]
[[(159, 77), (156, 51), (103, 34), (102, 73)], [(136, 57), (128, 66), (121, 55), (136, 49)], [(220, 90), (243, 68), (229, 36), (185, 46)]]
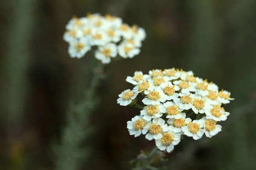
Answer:
[(84, 54), (86, 54), (87, 51), (90, 51), (90, 49), (91, 46), (89, 45), (88, 40), (86, 38), (81, 38), (70, 43), (68, 53), (71, 58), (81, 58), (84, 57)]

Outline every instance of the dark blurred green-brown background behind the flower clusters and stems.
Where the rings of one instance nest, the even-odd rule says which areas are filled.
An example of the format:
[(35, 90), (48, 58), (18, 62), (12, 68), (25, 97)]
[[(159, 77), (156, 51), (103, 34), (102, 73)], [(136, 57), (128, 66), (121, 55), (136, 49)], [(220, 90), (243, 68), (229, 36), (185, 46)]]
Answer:
[[(107, 65), (100, 100), (88, 115), (90, 148), (79, 169), (129, 170), (140, 150), (154, 142), (129, 136), (126, 122), (137, 108), (116, 104), (132, 85), (134, 71), (183, 68), (215, 82), (235, 98), (227, 121), (212, 139), (185, 138), (156, 162), (170, 170), (256, 169), (256, 1), (255, 0), (12, 0), (0, 2), (0, 169), (52, 170), (70, 101), (92, 78), (93, 57), (71, 59), (62, 40), (74, 14), (117, 15), (145, 28), (141, 53)], [(95, 61), (94, 61), (95, 62)]]

